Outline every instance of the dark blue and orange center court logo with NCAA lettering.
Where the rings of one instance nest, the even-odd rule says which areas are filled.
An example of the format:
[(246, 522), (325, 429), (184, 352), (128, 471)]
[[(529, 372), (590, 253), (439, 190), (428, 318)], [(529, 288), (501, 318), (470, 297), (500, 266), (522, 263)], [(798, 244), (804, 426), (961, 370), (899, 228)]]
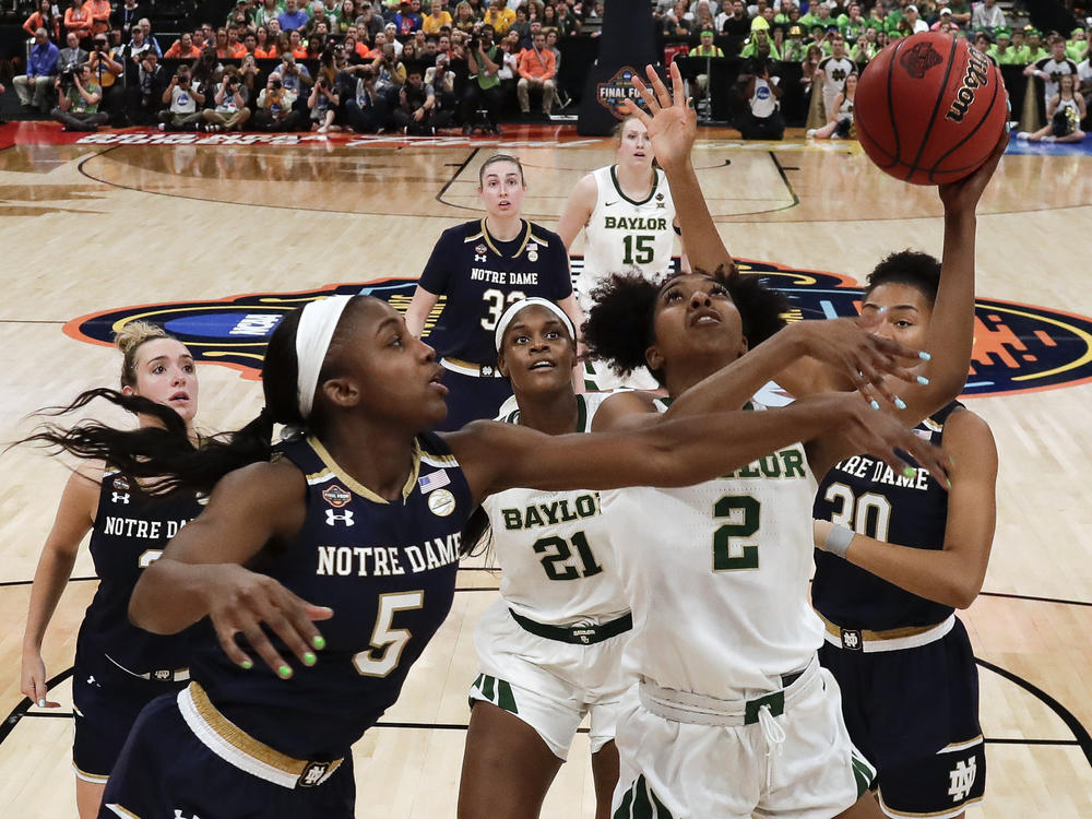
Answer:
[[(857, 313), (862, 289), (848, 276), (745, 259), (737, 262), (740, 271), (762, 276), (788, 297), (790, 321)], [(573, 276), (582, 268), (582, 259), (573, 257)], [(324, 296), (364, 293), (404, 311), (416, 285), (416, 280), (387, 278), (301, 293), (119, 307), (72, 319), (64, 332), (80, 341), (110, 345), (121, 327), (143, 319), (163, 324), (199, 361), (234, 367), (245, 378), (257, 379), (270, 334), (292, 310)], [(426, 322), (426, 332), (435, 325), (442, 306), (441, 297)], [(1092, 319), (1030, 305), (977, 300), (965, 396), (1032, 392), (1087, 381), (1092, 381)]]

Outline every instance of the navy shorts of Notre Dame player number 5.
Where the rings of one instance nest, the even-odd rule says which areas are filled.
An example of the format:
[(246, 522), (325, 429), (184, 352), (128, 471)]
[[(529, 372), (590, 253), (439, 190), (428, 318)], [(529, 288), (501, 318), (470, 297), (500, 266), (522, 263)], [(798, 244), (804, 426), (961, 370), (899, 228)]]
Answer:
[(321, 785), (289, 788), (221, 759), (190, 731), (176, 697), (141, 713), (106, 785), (99, 819), (353, 819), (352, 757)]

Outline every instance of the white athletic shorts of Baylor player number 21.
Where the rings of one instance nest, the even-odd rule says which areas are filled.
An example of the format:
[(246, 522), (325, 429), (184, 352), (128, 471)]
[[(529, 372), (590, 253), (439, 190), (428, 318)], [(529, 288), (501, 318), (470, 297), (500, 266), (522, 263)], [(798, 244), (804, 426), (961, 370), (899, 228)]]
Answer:
[(524, 630), (499, 600), (474, 627), (480, 674), (471, 686), (471, 705), (484, 700), (520, 717), (561, 760), (586, 715), (596, 753), (614, 739), (622, 696), (634, 682), (621, 670), (631, 633), (591, 645), (558, 642)]

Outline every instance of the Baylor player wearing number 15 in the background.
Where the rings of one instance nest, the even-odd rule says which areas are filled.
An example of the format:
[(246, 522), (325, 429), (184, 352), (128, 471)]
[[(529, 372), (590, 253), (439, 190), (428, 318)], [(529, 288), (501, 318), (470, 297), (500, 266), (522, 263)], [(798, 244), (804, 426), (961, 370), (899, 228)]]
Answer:
[[(592, 290), (610, 273), (639, 270), (658, 276), (670, 270), (675, 248), (675, 203), (664, 171), (653, 166), (644, 126), (627, 117), (616, 127), (615, 136), (616, 163), (577, 182), (557, 223), (566, 250), (585, 232), (584, 266), (577, 277), (577, 297), (584, 311), (591, 309)], [(584, 365), (584, 383), (590, 390), (658, 389), (644, 368), (624, 381), (593, 361)]]

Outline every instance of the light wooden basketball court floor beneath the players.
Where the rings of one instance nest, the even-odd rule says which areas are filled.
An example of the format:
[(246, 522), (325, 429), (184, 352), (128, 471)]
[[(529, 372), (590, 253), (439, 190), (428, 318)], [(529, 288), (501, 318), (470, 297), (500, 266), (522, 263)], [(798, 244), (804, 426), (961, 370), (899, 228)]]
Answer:
[[(580, 176), (613, 158), (607, 141), (554, 128), (511, 128), (501, 141), (249, 145), (46, 144), (57, 142), (46, 133), (51, 126), (22, 128), (0, 131), (4, 441), (27, 434), (24, 416), (34, 410), (117, 383), (119, 356), (62, 332), (72, 319), (414, 278), (440, 232), (478, 212), (477, 167), (498, 149), (523, 159), (525, 214), (549, 227)], [(696, 153), (737, 256), (859, 282), (891, 250), (939, 254), (935, 190), (887, 178), (852, 143), (744, 144), (705, 131)], [(980, 209), (981, 298), (1048, 308), (1055, 324), (1065, 323), (1058, 314), (1092, 316), (1090, 162), (1047, 152), (1002, 159)], [(1092, 357), (1092, 335), (1083, 337), (1083, 354), (1059, 365), (1076, 381)], [(986, 357), (1008, 351), (1013, 366), (1024, 366), (1034, 356), (1012, 352), (1019, 347), (1017, 339), (982, 349)], [(992, 424), (1000, 453), (993, 559), (982, 596), (963, 614), (982, 663), (989, 760), (986, 802), (969, 811), (972, 819), (1092, 817), (1092, 505), (1084, 485), (1092, 387), (1036, 391), (1057, 378), (1013, 380), (969, 399)], [(237, 369), (203, 365), (200, 379), (201, 426), (237, 428), (257, 413), (260, 390)], [(29, 581), (67, 467), (20, 448), (3, 454), (0, 471), (0, 816), (60, 819), (75, 815), (68, 672), (96, 581), (84, 550), (44, 651), (49, 675), (61, 678), (55, 696), (63, 707), (28, 707), (19, 673)], [(498, 584), (480, 561), (460, 575), (451, 616), (401, 701), (356, 748), (361, 818), (454, 816), (475, 676), (471, 630)], [(593, 804), (587, 744), (578, 737), (543, 815), (590, 817)]]

